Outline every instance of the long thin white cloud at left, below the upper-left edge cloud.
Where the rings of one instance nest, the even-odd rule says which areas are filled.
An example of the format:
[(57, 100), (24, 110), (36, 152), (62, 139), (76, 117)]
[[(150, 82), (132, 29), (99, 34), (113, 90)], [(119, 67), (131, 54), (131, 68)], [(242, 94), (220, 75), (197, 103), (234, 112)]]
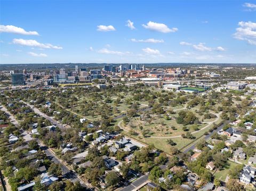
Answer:
[(22, 38), (14, 38), (12, 40), (13, 44), (18, 44), (22, 46), (34, 46), (34, 47), (39, 47), (39, 48), (53, 48), (53, 49), (62, 49), (60, 46), (53, 46), (51, 44), (43, 44), (43, 43), (38, 43), (36, 40), (26, 40)]

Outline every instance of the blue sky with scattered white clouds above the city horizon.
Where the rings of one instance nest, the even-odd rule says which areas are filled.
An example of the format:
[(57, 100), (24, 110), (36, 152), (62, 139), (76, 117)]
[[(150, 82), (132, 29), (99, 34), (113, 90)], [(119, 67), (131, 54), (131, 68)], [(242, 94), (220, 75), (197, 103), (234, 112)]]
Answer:
[(0, 64), (256, 62), (256, 1), (0, 2)]

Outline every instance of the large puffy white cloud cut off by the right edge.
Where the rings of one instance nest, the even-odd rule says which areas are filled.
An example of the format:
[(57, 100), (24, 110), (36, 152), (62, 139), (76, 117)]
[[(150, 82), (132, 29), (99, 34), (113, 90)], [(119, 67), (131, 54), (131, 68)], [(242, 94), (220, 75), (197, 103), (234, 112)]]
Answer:
[(233, 35), (238, 40), (245, 40), (251, 45), (256, 45), (256, 23), (255, 22), (238, 22), (238, 28)]

